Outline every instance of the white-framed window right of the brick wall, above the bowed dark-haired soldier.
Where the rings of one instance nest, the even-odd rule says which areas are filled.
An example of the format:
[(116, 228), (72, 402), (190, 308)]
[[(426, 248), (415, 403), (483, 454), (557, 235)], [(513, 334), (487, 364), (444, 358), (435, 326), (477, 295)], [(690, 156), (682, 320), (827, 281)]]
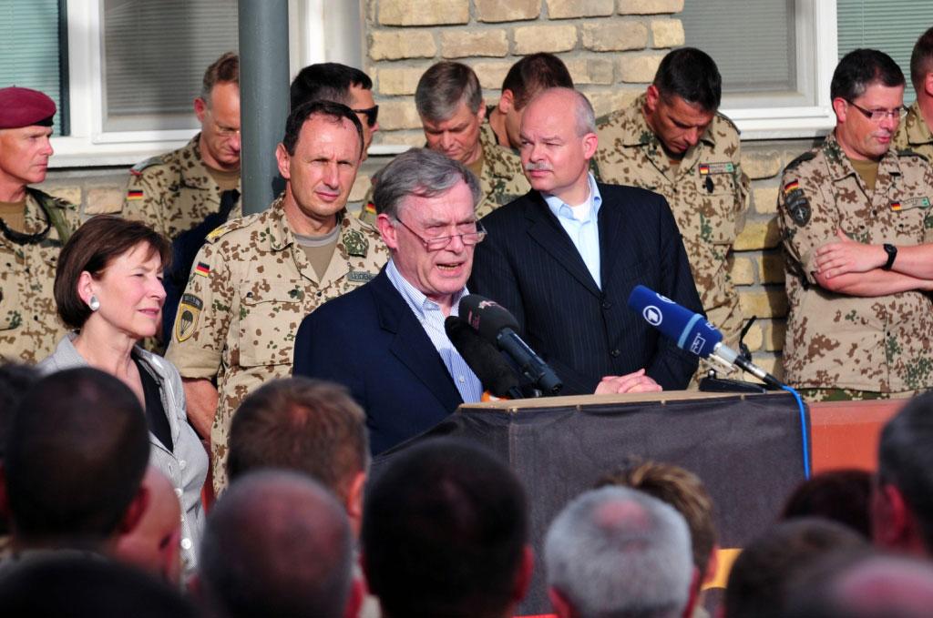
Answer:
[(717, 62), (722, 111), (744, 138), (809, 137), (834, 124), (835, 0), (686, 0), (685, 42)]

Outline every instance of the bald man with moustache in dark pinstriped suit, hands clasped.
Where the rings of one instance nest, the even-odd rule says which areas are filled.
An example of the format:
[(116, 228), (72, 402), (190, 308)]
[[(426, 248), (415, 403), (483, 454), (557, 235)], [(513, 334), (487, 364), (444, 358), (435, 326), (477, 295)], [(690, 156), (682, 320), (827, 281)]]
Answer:
[(595, 182), (595, 119), (576, 90), (528, 103), (521, 142), (532, 190), (483, 218), (470, 291), (512, 312), (562, 394), (684, 389), (697, 357), (626, 307), (640, 283), (703, 311), (667, 201)]

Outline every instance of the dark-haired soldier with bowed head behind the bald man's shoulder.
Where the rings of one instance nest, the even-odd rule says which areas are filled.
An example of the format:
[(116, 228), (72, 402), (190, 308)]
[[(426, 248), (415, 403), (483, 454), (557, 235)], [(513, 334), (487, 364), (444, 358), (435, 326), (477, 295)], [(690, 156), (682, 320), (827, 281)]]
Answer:
[(645, 94), (597, 121), (593, 160), (602, 182), (641, 186), (667, 199), (706, 317), (731, 345), (743, 316), (730, 253), (745, 226), (749, 183), (739, 132), (717, 113), (720, 81), (716, 63), (699, 49), (672, 51)]

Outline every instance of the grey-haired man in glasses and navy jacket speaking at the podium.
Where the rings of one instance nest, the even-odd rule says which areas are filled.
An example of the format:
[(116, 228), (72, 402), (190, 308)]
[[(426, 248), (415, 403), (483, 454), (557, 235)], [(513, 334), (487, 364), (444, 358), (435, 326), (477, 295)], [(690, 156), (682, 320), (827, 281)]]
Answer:
[(366, 411), (369, 449), (378, 455), (480, 401), (480, 380), (444, 320), (467, 294), (484, 233), (474, 211), (480, 181), (458, 161), (415, 148), (374, 185), (391, 259), (375, 279), (301, 322), (294, 374), (345, 385)]

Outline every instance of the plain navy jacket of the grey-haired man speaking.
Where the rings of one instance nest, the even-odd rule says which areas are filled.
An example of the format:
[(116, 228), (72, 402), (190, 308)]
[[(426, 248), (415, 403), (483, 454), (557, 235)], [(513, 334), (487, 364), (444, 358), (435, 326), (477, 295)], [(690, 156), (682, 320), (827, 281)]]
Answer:
[(350, 390), (366, 411), (373, 455), (434, 427), (463, 403), (438, 350), (384, 268), (301, 322), (293, 373)]

